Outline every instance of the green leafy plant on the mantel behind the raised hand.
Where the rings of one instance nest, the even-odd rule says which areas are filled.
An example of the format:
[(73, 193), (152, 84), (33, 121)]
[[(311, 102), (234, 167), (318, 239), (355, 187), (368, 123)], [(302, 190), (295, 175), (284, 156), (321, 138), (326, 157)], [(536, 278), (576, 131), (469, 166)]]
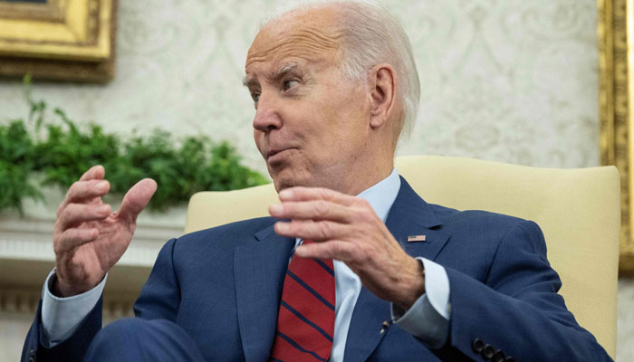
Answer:
[[(226, 191), (262, 185), (266, 178), (245, 167), (228, 142), (204, 136), (175, 139), (155, 130), (148, 137), (123, 138), (99, 125), (85, 127), (60, 109), (45, 119), (46, 103), (34, 101), (25, 77), (29, 117), (0, 125), (0, 210), (22, 211), (24, 198), (41, 198), (41, 186), (67, 188), (89, 167), (106, 168), (110, 193), (123, 194), (144, 177), (159, 184), (149, 208), (165, 210), (198, 191)], [(40, 175), (39, 177), (33, 177)], [(34, 181), (34, 178), (40, 181)]]

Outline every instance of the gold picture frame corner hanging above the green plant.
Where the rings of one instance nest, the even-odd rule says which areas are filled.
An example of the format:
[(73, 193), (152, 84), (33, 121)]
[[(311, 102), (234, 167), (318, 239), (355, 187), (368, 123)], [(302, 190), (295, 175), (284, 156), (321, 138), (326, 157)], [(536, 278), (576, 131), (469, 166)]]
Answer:
[(0, 76), (110, 81), (117, 0), (0, 0)]

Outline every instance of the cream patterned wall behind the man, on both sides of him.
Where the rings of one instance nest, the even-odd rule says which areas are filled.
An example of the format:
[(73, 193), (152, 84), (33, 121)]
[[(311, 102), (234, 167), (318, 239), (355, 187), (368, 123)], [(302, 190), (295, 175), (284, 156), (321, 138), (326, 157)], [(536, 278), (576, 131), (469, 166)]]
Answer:
[[(596, 0), (382, 0), (420, 72), (418, 125), (399, 154), (536, 167), (599, 165)], [(241, 86), (265, 0), (124, 1), (107, 85), (35, 82), (34, 98), (108, 131), (229, 139), (265, 173)], [(0, 122), (28, 113), (21, 81), (0, 82)], [(634, 360), (634, 282), (619, 284), (618, 360)], [(0, 361), (16, 360), (29, 312), (0, 313)]]

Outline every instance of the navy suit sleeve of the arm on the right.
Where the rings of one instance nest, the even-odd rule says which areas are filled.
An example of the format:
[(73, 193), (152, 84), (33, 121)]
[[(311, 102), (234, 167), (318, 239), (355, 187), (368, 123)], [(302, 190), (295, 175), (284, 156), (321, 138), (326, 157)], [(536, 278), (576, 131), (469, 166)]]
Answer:
[(557, 293), (562, 281), (546, 259), (537, 224), (511, 226), (484, 282), (451, 268), (447, 276), (452, 311), (445, 352), (457, 349), (480, 361), (483, 354), (476, 350), (489, 345), (489, 351), (499, 350), (515, 361), (611, 360)]

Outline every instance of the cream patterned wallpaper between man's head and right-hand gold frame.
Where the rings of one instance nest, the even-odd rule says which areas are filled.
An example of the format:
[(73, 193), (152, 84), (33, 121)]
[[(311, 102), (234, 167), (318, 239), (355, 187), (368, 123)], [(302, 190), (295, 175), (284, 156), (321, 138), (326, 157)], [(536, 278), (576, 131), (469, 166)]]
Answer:
[(417, 3), (416, 11), (394, 6), (424, 90), (404, 152), (597, 165), (592, 0)]

